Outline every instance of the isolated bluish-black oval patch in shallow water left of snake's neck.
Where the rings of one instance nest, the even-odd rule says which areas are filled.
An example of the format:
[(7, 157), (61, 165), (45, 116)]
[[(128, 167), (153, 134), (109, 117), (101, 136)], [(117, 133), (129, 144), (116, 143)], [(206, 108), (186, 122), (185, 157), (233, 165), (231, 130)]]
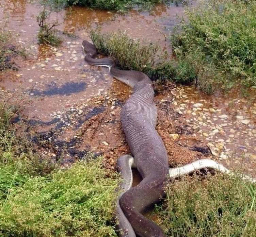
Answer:
[(74, 93), (84, 91), (86, 89), (85, 82), (67, 82), (66, 84), (58, 87), (55, 82), (52, 82), (50, 85), (47, 85), (47, 90), (31, 90), (30, 95), (33, 96), (69, 96)]

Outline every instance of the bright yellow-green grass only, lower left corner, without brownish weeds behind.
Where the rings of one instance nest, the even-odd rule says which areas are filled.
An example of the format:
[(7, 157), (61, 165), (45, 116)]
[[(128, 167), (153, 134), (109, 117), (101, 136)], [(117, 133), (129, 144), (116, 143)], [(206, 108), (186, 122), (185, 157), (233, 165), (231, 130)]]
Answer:
[(14, 184), (0, 199), (1, 236), (116, 236), (118, 179), (106, 177), (100, 159)]

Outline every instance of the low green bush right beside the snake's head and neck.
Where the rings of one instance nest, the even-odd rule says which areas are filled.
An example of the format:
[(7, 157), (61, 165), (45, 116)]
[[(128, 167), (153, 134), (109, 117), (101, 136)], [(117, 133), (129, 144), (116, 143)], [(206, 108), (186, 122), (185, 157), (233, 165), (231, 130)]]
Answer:
[(189, 83), (196, 78), (194, 68), (187, 61), (163, 59), (160, 48), (152, 43), (135, 41), (120, 31), (105, 35), (91, 31), (90, 37), (98, 51), (110, 55), (121, 69), (142, 71), (161, 82)]

